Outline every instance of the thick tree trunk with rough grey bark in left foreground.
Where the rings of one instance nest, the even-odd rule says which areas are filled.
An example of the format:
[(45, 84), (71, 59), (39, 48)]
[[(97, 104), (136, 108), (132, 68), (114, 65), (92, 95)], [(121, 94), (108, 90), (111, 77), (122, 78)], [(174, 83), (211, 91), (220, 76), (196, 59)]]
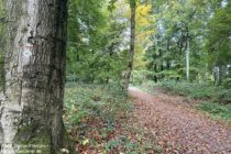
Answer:
[(57, 153), (64, 134), (67, 0), (7, 0), (7, 11), (0, 153)]

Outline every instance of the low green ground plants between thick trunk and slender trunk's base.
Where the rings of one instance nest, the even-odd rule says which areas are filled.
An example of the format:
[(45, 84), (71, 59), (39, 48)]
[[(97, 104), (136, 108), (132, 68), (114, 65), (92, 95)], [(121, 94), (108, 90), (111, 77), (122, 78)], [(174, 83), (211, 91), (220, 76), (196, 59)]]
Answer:
[[(103, 121), (113, 121), (118, 111), (127, 112), (129, 105), (121, 88), (111, 90), (111, 86), (82, 85), (78, 88), (67, 88), (65, 95), (66, 117), (72, 124), (79, 124), (84, 120), (98, 117)], [(70, 124), (67, 123), (67, 124)]]

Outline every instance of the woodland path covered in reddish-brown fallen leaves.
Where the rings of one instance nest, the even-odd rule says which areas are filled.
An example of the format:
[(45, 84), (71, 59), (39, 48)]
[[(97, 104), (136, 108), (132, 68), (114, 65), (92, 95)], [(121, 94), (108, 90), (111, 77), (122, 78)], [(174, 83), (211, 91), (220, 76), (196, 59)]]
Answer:
[(130, 88), (135, 116), (164, 154), (231, 154), (231, 125), (210, 120), (183, 97)]

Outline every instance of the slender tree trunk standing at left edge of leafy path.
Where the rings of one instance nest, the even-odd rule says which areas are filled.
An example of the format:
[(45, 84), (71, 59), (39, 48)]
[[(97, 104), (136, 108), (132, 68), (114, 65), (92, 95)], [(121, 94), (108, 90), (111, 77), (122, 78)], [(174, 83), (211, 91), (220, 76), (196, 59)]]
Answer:
[(136, 11), (136, 2), (135, 0), (130, 0), (131, 8), (131, 40), (130, 40), (130, 51), (128, 57), (128, 67), (124, 74), (123, 89), (129, 89), (130, 77), (133, 69), (133, 58), (135, 52), (135, 11)]

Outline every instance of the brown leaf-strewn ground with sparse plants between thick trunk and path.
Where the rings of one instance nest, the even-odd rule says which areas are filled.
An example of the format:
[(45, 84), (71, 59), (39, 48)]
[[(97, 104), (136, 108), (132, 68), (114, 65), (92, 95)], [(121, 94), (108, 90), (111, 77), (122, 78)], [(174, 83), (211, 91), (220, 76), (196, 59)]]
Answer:
[(133, 112), (120, 114), (114, 123), (86, 119), (72, 128), (74, 147), (80, 154), (158, 154), (155, 136), (143, 129)]

